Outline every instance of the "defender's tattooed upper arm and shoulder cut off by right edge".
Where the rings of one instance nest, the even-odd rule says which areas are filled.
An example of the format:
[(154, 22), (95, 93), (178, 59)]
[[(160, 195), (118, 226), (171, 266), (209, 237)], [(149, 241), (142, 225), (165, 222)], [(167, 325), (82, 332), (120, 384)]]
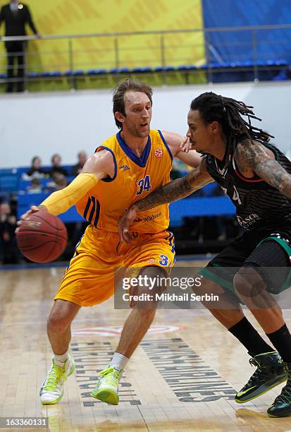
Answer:
[(242, 174), (255, 172), (270, 186), (291, 198), (291, 175), (275, 160), (273, 152), (258, 141), (244, 140), (238, 144), (235, 162)]

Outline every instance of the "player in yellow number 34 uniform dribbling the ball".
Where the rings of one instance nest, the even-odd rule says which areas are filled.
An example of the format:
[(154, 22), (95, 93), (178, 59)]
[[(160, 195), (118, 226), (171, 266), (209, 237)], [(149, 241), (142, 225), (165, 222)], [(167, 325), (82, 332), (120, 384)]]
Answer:
[[(114, 268), (133, 268), (144, 277), (164, 277), (175, 261), (173, 234), (167, 232), (168, 205), (147, 211), (135, 220), (132, 244), (120, 243), (118, 219), (124, 210), (167, 184), (173, 156), (192, 167), (200, 163), (193, 150), (180, 152), (185, 139), (177, 133), (151, 131), (151, 88), (123, 80), (113, 94), (113, 114), (120, 129), (87, 160), (82, 173), (66, 188), (51, 194), (40, 208), (58, 215), (77, 204), (89, 222), (70, 260), (49, 316), (47, 330), (54, 352), (51, 369), (40, 391), (42, 404), (63, 397), (64, 382), (75, 366), (68, 354), (70, 323), (81, 306), (93, 306), (114, 292)], [(27, 217), (32, 208), (23, 215)], [(18, 222), (21, 224), (21, 222)], [(157, 289), (157, 287), (154, 287)], [(147, 294), (148, 288), (138, 287)], [(149, 291), (151, 294), (153, 291)], [(151, 325), (156, 304), (131, 303), (120, 342), (108, 368), (99, 373), (92, 397), (118, 404), (118, 381), (132, 352)]]

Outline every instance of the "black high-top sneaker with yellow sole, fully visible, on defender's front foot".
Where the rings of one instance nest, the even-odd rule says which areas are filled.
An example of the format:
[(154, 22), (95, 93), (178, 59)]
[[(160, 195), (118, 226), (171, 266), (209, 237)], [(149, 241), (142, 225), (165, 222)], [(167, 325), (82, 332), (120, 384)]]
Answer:
[(235, 402), (238, 404), (244, 404), (255, 397), (264, 395), (271, 388), (287, 380), (283, 360), (278, 352), (258, 354), (252, 357), (249, 363), (256, 366), (256, 371), (242, 390), (235, 395)]

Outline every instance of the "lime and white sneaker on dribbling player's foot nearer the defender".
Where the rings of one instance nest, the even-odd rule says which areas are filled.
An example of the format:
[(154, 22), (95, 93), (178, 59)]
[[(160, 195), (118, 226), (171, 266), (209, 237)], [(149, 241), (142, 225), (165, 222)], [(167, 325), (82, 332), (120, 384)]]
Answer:
[(112, 366), (103, 369), (99, 372), (99, 380), (97, 381), (96, 388), (92, 391), (91, 396), (99, 399), (106, 404), (118, 405), (118, 383), (123, 374), (123, 369), (118, 371)]

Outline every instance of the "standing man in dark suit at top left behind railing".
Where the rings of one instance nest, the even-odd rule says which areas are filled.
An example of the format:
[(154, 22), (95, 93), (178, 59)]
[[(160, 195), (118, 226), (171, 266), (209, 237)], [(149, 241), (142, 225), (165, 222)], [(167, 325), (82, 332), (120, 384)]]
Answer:
[[(28, 24), (38, 37), (40, 37), (35, 24), (32, 21), (29, 8), (18, 0), (11, 0), (0, 11), (0, 25), (5, 23), (5, 36), (25, 36), (25, 24)], [(23, 92), (25, 73), (25, 42), (5, 42), (7, 51), (7, 88), (6, 92), (13, 92), (13, 67), (14, 59), (18, 60), (17, 91)]]

